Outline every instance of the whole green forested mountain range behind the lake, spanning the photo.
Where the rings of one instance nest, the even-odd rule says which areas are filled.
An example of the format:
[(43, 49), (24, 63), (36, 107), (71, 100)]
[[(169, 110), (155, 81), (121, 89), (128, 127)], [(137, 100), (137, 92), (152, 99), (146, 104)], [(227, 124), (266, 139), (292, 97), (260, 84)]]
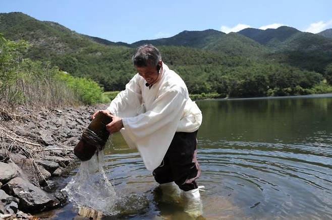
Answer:
[[(178, 72), (192, 94), (218, 92), (251, 97), (311, 93), (331, 63), (332, 40), (290, 27), (225, 34), (183, 31), (170, 38), (133, 44), (76, 33), (58, 23), (23, 13), (0, 14), (0, 33), (32, 46), (27, 57), (51, 61), (76, 77), (90, 78), (106, 91), (122, 90), (135, 74), (135, 47), (152, 43)], [(314, 70), (314, 71), (312, 71)]]

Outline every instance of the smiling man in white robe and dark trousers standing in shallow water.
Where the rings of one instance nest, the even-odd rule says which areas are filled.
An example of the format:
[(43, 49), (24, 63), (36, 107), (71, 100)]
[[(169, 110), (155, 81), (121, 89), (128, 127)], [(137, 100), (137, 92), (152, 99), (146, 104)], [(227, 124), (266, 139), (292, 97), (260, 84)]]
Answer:
[(106, 129), (121, 131), (160, 186), (178, 185), (187, 198), (199, 198), (196, 135), (201, 111), (189, 98), (181, 77), (162, 62), (156, 47), (139, 47), (132, 60), (138, 73), (102, 110), (113, 119)]

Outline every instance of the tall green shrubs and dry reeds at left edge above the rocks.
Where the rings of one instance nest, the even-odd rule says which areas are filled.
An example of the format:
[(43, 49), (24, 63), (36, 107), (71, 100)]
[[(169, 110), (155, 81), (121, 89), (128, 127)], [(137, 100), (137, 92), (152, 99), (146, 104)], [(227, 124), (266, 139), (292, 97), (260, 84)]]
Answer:
[(49, 62), (24, 59), (29, 45), (9, 41), (0, 34), (0, 107), (60, 107), (79, 103), (63, 82), (53, 79), (59, 71)]

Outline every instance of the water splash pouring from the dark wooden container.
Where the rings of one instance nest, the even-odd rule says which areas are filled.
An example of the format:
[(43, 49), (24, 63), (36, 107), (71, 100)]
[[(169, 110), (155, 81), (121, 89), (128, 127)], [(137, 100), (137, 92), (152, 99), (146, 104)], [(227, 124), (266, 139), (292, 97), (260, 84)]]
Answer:
[(104, 153), (100, 151), (89, 161), (81, 162), (77, 174), (63, 189), (74, 207), (82, 206), (114, 214), (117, 195), (103, 170)]

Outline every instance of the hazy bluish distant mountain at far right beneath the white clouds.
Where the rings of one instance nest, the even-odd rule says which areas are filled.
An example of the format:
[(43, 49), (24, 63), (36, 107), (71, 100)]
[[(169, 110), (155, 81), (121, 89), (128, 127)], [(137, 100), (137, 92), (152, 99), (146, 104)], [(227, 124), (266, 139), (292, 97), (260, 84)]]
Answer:
[[(324, 72), (332, 62), (332, 39), (282, 26), (238, 32), (271, 49), (269, 57), (303, 69)], [(326, 32), (327, 33), (327, 32)]]

